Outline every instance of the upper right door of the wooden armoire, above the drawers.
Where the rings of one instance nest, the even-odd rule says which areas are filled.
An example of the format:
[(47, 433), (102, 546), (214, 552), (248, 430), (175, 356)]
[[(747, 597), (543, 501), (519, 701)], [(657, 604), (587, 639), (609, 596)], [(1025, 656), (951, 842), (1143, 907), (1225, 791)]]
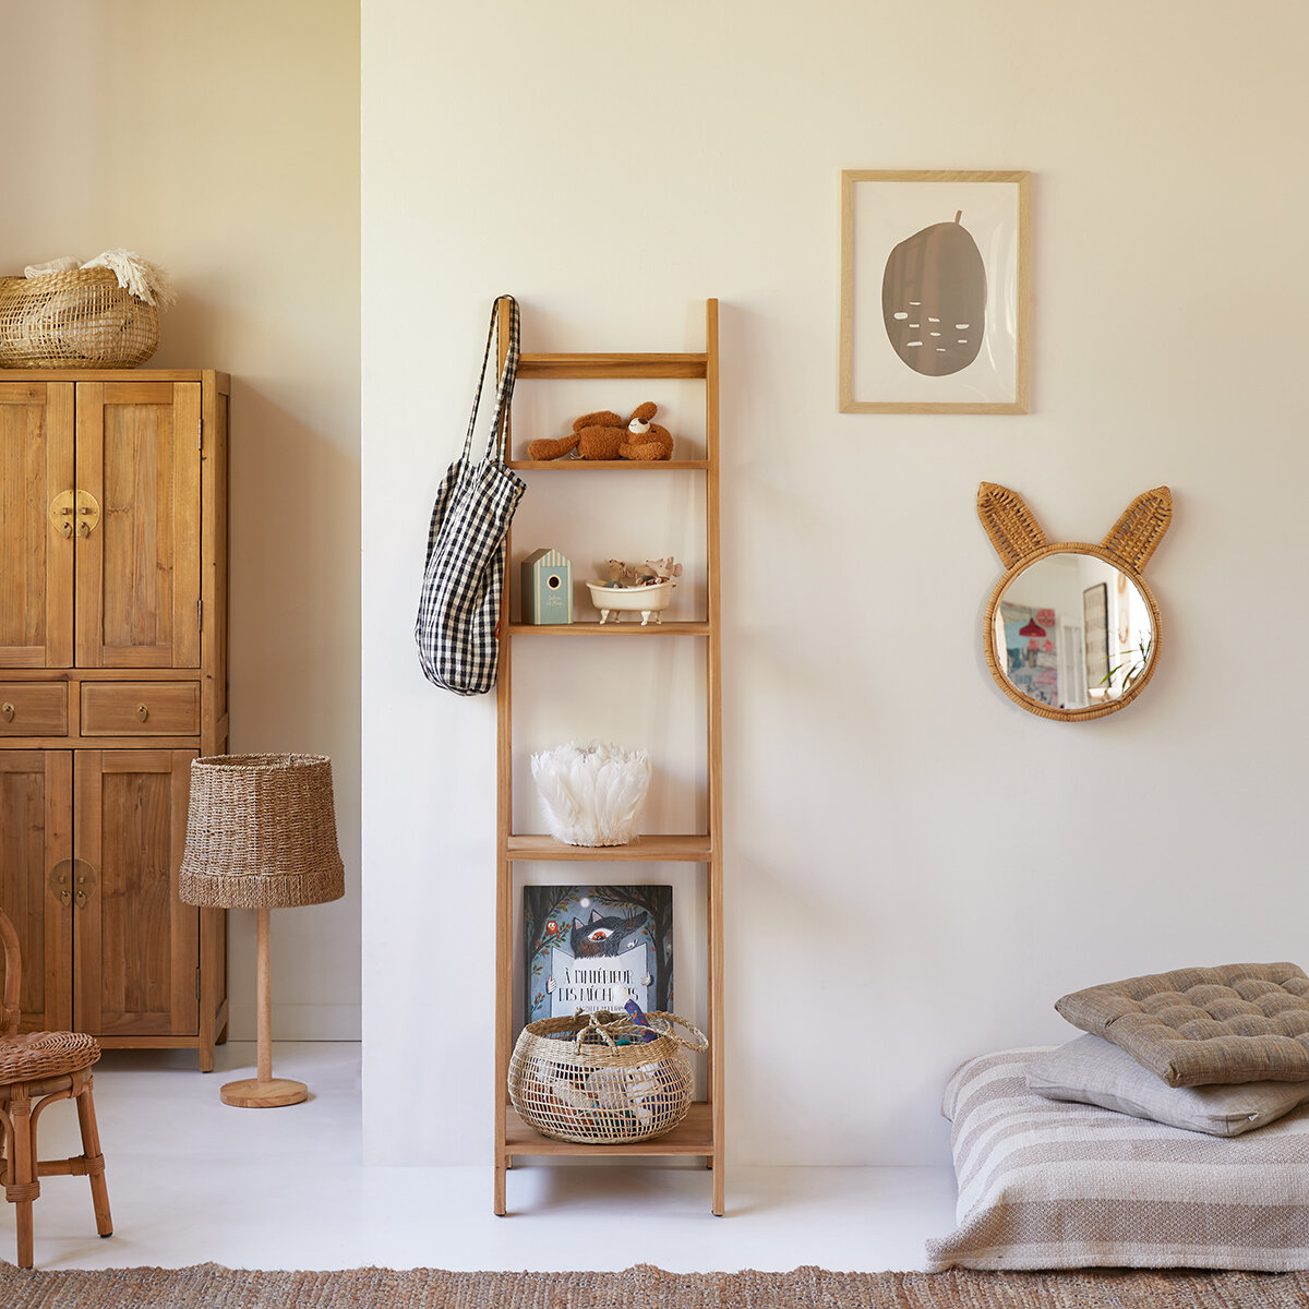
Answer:
[(77, 385), (77, 480), (99, 524), (77, 538), (77, 662), (200, 664), (200, 386)]

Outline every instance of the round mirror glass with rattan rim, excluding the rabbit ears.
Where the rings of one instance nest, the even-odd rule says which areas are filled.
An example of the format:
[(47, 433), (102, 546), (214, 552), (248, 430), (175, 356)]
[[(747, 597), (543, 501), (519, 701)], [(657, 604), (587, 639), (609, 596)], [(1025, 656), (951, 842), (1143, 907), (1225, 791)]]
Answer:
[(1156, 614), (1143, 584), (1107, 560), (1043, 555), (992, 601), (992, 672), (1033, 712), (1110, 712), (1153, 673)]

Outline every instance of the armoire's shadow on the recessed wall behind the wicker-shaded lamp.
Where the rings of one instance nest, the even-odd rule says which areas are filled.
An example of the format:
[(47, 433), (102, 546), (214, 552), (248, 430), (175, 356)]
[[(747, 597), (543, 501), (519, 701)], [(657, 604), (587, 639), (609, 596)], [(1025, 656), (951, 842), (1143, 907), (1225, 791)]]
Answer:
[[(229, 749), (330, 755), (346, 864), (344, 899), (276, 918), (283, 1039), (359, 1034), (359, 533), (357, 452), (234, 376)], [(246, 918), (232, 919), (234, 1039), (254, 1030)], [(340, 966), (325, 973), (325, 952)]]

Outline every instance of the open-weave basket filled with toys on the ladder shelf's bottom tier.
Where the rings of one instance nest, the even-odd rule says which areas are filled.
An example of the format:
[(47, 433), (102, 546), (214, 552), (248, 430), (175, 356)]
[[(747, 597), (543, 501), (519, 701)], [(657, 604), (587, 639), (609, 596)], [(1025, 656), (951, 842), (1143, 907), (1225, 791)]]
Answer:
[(649, 1029), (607, 1011), (529, 1022), (509, 1059), (518, 1117), (542, 1136), (581, 1144), (643, 1141), (677, 1127), (695, 1084), (685, 1051), (709, 1043), (677, 1014), (647, 1017), (658, 1031), (652, 1041), (644, 1039)]

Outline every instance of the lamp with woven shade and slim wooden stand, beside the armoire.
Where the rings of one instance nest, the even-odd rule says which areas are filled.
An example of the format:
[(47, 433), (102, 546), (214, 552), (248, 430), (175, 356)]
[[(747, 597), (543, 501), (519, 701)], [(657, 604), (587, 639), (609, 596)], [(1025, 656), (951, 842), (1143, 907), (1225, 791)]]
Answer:
[(187, 905), (259, 914), (258, 1076), (229, 1081), (223, 1102), (242, 1109), (300, 1103), (309, 1094), (305, 1084), (272, 1076), (270, 915), (344, 894), (331, 761), (314, 754), (194, 759), (179, 884)]

